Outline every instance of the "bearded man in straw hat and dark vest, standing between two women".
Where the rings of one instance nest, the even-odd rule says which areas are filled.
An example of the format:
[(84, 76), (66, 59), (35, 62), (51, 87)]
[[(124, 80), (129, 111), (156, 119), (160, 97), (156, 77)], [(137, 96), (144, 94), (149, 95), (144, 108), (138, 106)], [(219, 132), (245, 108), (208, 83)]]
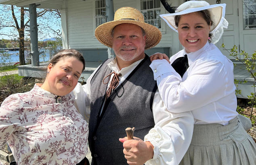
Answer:
[[(95, 36), (113, 47), (116, 57), (74, 90), (78, 110), (89, 121), (92, 165), (178, 164), (194, 121), (191, 112), (170, 113), (159, 96), (144, 50), (159, 43), (161, 32), (144, 23), (140, 11), (124, 7), (114, 21), (97, 27)], [(134, 140), (123, 138), (128, 127), (136, 128)]]

